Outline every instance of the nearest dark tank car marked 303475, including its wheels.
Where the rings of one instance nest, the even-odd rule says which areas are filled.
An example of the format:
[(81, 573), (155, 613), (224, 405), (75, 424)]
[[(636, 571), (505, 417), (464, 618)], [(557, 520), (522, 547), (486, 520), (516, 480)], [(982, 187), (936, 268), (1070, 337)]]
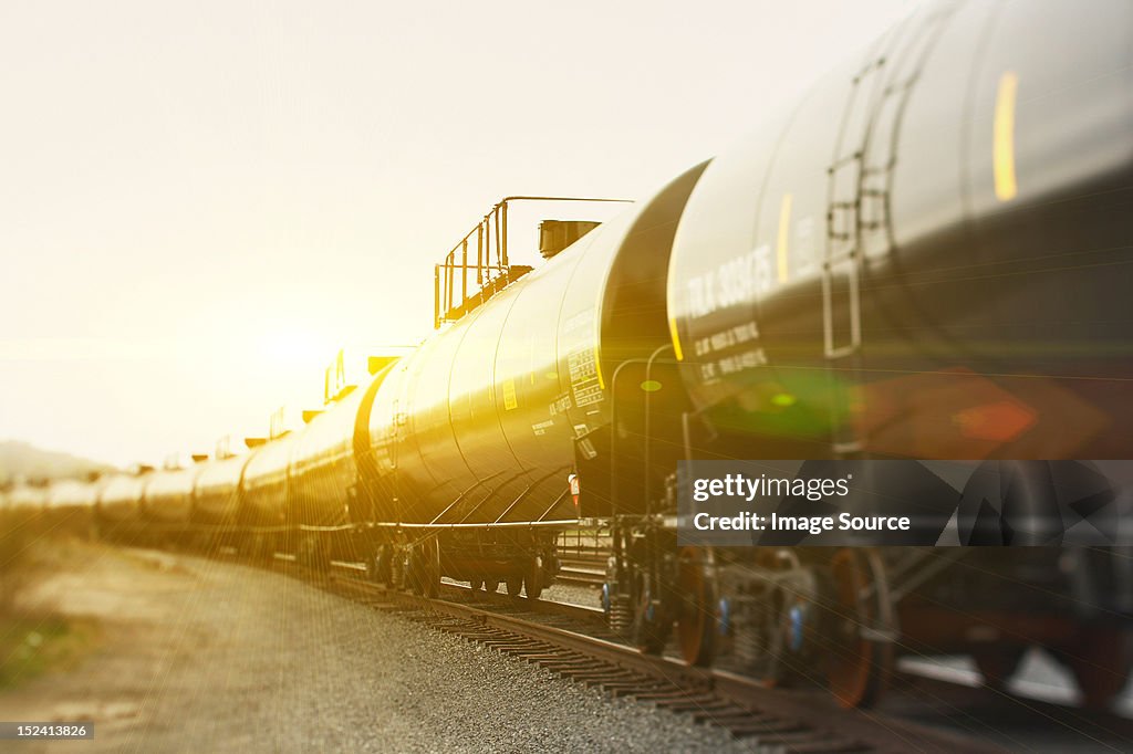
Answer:
[[(666, 429), (648, 489), (672, 473), (670, 437), (682, 457), (981, 460), (1023, 475), (1128, 459), (1131, 54), (1127, 3), (935, 3), (715, 158), (670, 257), (657, 342), (689, 403), (654, 409)], [(934, 479), (894, 498), (915, 509)], [(1057, 545), (1039, 489), (1002, 521), (962, 523), (956, 543)], [(676, 616), (689, 661), (710, 659), (726, 618), (750, 671), (825, 672), (847, 705), (875, 696), (895, 653), (955, 649), (997, 680), (1046, 646), (1091, 704), (1124, 686), (1124, 550), (674, 559), (651, 503), (637, 500), (616, 564), (619, 586), (644, 571), (646, 588), (616, 593), (639, 624), (661, 616), (646, 643)], [(1127, 515), (1127, 497), (1110, 505)]]

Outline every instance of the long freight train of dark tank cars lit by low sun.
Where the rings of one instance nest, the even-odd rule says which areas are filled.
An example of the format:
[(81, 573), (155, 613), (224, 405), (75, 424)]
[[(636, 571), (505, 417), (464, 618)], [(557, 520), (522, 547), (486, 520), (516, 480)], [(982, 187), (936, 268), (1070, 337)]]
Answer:
[(1058, 541), (1007, 513), (956, 542), (1000, 547), (679, 547), (674, 480), (707, 459), (1133, 457), (1131, 92), (1126, 2), (928, 5), (615, 220), (546, 223), (535, 269), (497, 205), (437, 266), (435, 336), (301, 431), (9, 505), (529, 598), (555, 533), (597, 520), (610, 622), (645, 651), (825, 677), (854, 706), (898, 656), (970, 653), (1003, 683), (1039, 645), (1107, 704), (1125, 549), (1006, 547)]

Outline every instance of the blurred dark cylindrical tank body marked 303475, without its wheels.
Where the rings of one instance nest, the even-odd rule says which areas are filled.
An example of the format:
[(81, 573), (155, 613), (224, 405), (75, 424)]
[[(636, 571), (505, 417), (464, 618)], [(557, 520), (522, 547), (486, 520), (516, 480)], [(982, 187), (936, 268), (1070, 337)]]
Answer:
[(668, 302), (731, 455), (1128, 455), (1131, 49), (1126, 2), (935, 3), (713, 162)]

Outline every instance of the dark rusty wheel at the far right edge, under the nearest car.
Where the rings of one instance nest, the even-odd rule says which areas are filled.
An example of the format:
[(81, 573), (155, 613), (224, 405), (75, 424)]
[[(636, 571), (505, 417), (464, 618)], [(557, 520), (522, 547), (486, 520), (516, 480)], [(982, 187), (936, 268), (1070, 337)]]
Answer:
[(1119, 628), (1087, 626), (1076, 641), (1058, 648), (1055, 654), (1074, 675), (1082, 692), (1082, 704), (1105, 710), (1113, 703), (1128, 679), (1133, 662), (1131, 636)]

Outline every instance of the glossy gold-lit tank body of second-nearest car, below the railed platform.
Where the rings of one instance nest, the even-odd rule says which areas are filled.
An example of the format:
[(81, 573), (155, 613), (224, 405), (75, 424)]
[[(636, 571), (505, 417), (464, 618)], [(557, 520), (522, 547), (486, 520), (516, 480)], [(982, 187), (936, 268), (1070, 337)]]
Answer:
[[(659, 271), (701, 170), (591, 231), (394, 366), (369, 414), (385, 520), (578, 517), (568, 481), (576, 442), (588, 438), (605, 454), (614, 371), (667, 341)], [(608, 470), (585, 489), (606, 478)]]

